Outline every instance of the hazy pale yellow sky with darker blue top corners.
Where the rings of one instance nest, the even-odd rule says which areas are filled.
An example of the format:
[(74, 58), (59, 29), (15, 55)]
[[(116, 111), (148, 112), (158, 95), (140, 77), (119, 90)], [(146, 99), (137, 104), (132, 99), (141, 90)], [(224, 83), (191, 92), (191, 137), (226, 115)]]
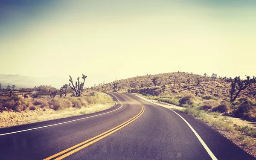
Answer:
[(0, 0), (3, 74), (256, 76), (255, 59), (256, 0)]

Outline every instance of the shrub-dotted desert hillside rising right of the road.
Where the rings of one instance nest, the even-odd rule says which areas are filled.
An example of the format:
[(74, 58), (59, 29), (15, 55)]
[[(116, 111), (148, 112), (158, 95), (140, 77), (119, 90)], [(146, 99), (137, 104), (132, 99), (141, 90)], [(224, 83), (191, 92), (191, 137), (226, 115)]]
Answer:
[[(153, 79), (156, 78), (156, 85)], [(244, 77), (246, 78), (246, 77)], [(236, 117), (256, 120), (256, 84), (241, 90), (230, 103), (231, 78), (175, 72), (137, 76), (91, 87), (101, 92), (140, 93), (148, 99), (168, 102), (183, 107), (196, 107), (225, 112)], [(164, 85), (165, 88), (162, 88)]]

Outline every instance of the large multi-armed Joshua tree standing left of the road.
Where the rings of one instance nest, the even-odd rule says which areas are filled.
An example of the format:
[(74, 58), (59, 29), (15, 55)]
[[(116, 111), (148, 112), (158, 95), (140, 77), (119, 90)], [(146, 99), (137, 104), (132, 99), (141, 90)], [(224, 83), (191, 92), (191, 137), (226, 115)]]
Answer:
[[(85, 79), (87, 78), (87, 76), (85, 76), (84, 74), (82, 75), (82, 79), (85, 81)], [(73, 93), (71, 96), (76, 96), (76, 97), (80, 97), (81, 96), (81, 92), (83, 91), (83, 89), (84, 89), (84, 81), (83, 82), (80, 82), (79, 81), (79, 77), (77, 78), (77, 81), (76, 81), (76, 87), (74, 86), (74, 84), (73, 84), (73, 79), (72, 79), (72, 77), (70, 76), (70, 79), (69, 79), (69, 81), (71, 82), (71, 84), (72, 84), (72, 86), (71, 86), (71, 84), (69, 83), (68, 85), (69, 85), (69, 87), (72, 89), (72, 90), (74, 90), (75, 91), (75, 93)]]

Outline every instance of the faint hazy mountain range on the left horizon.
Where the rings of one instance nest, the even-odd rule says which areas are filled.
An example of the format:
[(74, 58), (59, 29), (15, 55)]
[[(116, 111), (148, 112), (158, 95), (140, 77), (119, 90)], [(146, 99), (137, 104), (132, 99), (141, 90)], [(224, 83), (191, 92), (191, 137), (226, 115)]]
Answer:
[(0, 83), (2, 89), (9, 85), (15, 85), (16, 88), (31, 88), (40, 85), (51, 85), (52, 87), (59, 88), (65, 83), (69, 83), (68, 78), (52, 77), (28, 77), (18, 74), (0, 74)]

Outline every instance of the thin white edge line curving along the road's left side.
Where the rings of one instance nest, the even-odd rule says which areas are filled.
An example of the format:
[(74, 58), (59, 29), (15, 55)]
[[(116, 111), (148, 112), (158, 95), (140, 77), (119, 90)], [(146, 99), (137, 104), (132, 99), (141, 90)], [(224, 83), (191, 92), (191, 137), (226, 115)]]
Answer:
[[(111, 93), (109, 93), (109, 94), (111, 94)], [(113, 95), (113, 94), (112, 94), (112, 95)], [(113, 95), (113, 96), (116, 97), (115, 95)], [(117, 98), (116, 98), (116, 99), (117, 99)], [(119, 99), (117, 99), (117, 100), (118, 100), (118, 102), (120, 102)], [(121, 102), (120, 102), (120, 103), (121, 103)], [(122, 107), (122, 106), (123, 106), (123, 105), (122, 105), (122, 103), (121, 103), (121, 107)], [(115, 109), (115, 110), (113, 110), (113, 111), (116, 111), (116, 110), (120, 109), (121, 107), (119, 107), (119, 108), (117, 108), (117, 109)], [(97, 115), (94, 115), (94, 116), (100, 116), (100, 115), (103, 115), (103, 114), (111, 113), (111, 112), (113, 112), (113, 111), (109, 111), (109, 112), (106, 112), (106, 113), (97, 114)], [(62, 123), (57, 123), (57, 124), (54, 124), (54, 125), (61, 125), (61, 124), (64, 124), (64, 123), (79, 121), (79, 120), (81, 120), (81, 119), (87, 119), (87, 118), (91, 118), (91, 117), (94, 117), (94, 116), (88, 116), (88, 117), (85, 117), (85, 118), (75, 119), (75, 120), (72, 120), (72, 121), (67, 121), (67, 122), (62, 122)], [(15, 132), (10, 132), (10, 133), (0, 134), (0, 136), (7, 135), (7, 134), (15, 134), (15, 133), (24, 132), (24, 131), (30, 131), (30, 130), (39, 129), (39, 128), (50, 127), (50, 126), (54, 126), (54, 125), (46, 125), (46, 126), (37, 127), (37, 128), (31, 128), (31, 129), (26, 129), (26, 130), (22, 130), (22, 131), (15, 131)]]

